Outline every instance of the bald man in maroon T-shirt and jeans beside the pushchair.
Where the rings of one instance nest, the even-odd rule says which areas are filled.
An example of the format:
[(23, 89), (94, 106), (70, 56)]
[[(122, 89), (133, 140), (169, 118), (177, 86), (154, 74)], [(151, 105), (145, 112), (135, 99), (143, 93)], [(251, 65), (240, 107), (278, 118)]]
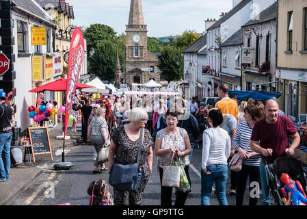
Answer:
[[(270, 205), (269, 186), (265, 173), (265, 162), (273, 164), (278, 157), (289, 157), (294, 155), (294, 150), (300, 142), (297, 129), (290, 118), (278, 116), (278, 102), (269, 99), (265, 103), (265, 118), (258, 120), (254, 125), (250, 148), (261, 154), (260, 177), (262, 186), (261, 204)], [(292, 143), (289, 146), (289, 138)]]

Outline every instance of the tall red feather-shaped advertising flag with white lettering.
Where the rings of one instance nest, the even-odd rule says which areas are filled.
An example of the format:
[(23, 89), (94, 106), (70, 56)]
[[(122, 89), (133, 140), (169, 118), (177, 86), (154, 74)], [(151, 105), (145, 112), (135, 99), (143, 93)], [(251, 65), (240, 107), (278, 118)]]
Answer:
[(68, 118), (72, 110), (72, 99), (75, 96), (77, 82), (79, 80), (79, 73), (84, 57), (84, 40), (82, 31), (76, 27), (72, 34), (69, 59), (68, 59), (68, 73), (67, 73), (67, 87), (66, 87), (66, 106), (65, 106), (65, 125), (64, 125), (64, 142), (66, 136), (66, 128)]

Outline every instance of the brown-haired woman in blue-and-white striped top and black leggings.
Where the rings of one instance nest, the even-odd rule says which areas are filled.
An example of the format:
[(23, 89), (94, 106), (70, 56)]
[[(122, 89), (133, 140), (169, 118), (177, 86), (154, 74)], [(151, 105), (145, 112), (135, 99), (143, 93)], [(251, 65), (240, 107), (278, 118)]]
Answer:
[[(250, 183), (259, 183), (259, 166), (260, 154), (255, 153), (250, 149), (250, 137), (252, 136), (252, 129), (259, 119), (261, 114), (256, 105), (248, 105), (244, 109), (245, 122), (240, 123), (233, 139), (233, 147), (240, 153), (244, 159), (242, 169), (237, 172), (237, 192), (236, 205), (243, 205), (243, 196), (246, 187), (246, 181), (250, 178)], [(250, 187), (250, 190), (252, 188)], [(250, 196), (249, 205), (257, 205), (258, 198)]]

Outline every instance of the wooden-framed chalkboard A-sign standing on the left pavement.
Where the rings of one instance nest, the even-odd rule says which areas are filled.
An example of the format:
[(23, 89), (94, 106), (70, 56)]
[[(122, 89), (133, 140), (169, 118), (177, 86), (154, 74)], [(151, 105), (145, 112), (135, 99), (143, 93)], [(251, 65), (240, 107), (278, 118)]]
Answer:
[(42, 155), (43, 159), (44, 154), (50, 153), (53, 160), (48, 127), (29, 127), (28, 129), (34, 163), (35, 155)]

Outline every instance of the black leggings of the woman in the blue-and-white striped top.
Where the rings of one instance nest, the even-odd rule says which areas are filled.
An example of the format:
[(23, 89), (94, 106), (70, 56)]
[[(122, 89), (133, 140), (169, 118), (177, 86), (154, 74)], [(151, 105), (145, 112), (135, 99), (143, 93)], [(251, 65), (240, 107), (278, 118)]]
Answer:
[[(250, 183), (259, 183), (259, 167), (242, 165), (240, 172), (237, 172), (237, 192), (236, 192), (236, 205), (243, 205), (243, 197), (246, 188), (246, 181), (250, 177)], [(249, 186), (250, 188), (250, 186)], [(250, 188), (251, 190), (252, 188)], [(257, 205), (258, 198), (252, 198), (250, 196), (249, 205)]]

